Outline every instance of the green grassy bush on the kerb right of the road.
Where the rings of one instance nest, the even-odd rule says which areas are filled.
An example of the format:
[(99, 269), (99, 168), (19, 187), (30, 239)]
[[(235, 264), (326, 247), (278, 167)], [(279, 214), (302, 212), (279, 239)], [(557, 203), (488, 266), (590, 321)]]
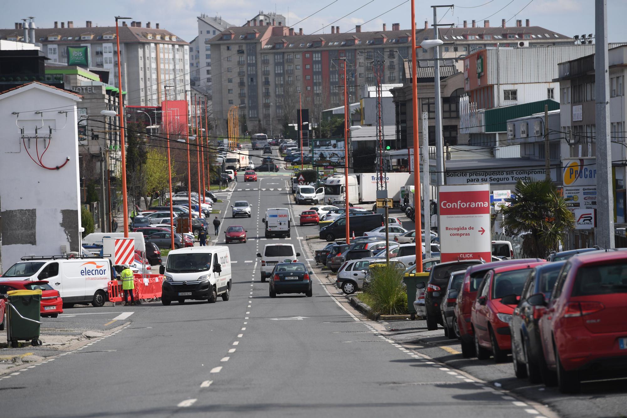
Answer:
[(403, 286), (403, 271), (392, 265), (371, 267), (372, 281), (367, 292), (372, 296), (371, 308), (380, 314), (407, 313), (407, 293)]

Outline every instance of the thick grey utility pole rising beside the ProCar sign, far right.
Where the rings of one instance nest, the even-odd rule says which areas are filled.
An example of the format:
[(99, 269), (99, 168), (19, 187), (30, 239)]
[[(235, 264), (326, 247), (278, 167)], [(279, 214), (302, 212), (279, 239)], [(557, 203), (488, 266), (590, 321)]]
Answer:
[(594, 88), (596, 97), (596, 240), (601, 248), (614, 248), (614, 196), (609, 137), (608, 1), (595, 0)]

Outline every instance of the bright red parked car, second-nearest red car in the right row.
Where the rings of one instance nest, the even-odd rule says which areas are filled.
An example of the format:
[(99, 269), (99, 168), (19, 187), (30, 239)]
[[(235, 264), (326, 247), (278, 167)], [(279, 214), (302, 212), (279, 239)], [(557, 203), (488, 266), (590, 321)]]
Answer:
[(470, 322), (479, 360), (503, 362), (512, 350), (509, 323), (529, 272), (543, 262), (493, 267), (483, 277), (472, 305)]

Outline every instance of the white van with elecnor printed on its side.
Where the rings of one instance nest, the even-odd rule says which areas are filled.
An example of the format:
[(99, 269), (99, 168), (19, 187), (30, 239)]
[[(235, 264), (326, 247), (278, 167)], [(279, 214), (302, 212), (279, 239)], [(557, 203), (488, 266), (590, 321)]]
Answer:
[(107, 284), (113, 280), (110, 260), (99, 257), (22, 257), (4, 272), (2, 280), (47, 280), (58, 290), (63, 305), (107, 301)]

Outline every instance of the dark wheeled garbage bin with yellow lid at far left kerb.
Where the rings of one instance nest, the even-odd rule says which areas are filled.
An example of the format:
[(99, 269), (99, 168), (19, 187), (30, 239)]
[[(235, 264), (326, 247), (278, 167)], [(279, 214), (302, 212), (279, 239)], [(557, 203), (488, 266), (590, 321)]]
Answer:
[(41, 289), (9, 291), (7, 306), (7, 340), (11, 347), (17, 347), (19, 340), (41, 345)]

